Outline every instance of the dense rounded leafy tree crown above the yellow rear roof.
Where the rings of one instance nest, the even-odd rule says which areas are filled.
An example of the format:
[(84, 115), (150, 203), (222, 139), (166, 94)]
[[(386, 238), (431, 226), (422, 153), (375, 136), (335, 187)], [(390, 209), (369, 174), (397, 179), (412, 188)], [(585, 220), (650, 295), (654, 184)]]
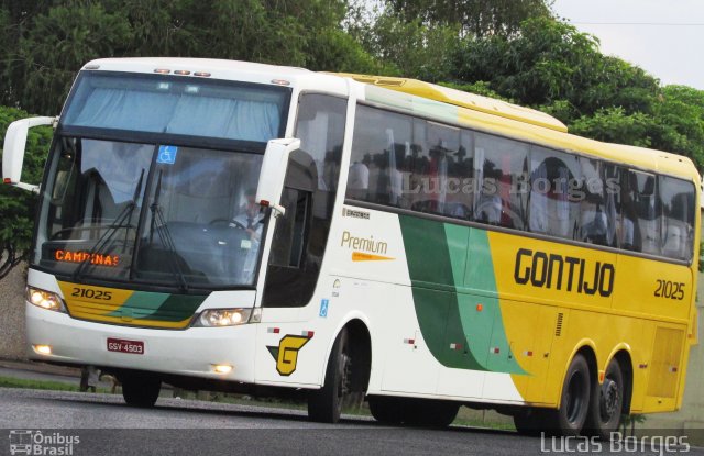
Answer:
[(598, 40), (553, 19), (525, 21), (516, 36), (465, 38), (455, 54), (455, 80), (486, 81), (519, 104), (569, 123), (609, 107), (649, 112), (658, 80), (600, 52)]

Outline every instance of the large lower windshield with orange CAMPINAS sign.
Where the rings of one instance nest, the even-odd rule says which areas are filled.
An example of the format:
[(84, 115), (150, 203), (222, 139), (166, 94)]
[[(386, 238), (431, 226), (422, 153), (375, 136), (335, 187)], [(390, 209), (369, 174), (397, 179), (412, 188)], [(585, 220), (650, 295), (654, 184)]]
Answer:
[(35, 264), (74, 279), (252, 286), (261, 164), (253, 153), (61, 137)]

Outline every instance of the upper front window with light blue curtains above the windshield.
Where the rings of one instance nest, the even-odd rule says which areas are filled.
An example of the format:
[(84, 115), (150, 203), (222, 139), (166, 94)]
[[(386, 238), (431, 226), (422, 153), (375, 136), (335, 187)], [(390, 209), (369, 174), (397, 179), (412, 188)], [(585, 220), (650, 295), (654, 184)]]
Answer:
[(290, 93), (251, 82), (82, 71), (61, 127), (266, 143), (284, 136)]

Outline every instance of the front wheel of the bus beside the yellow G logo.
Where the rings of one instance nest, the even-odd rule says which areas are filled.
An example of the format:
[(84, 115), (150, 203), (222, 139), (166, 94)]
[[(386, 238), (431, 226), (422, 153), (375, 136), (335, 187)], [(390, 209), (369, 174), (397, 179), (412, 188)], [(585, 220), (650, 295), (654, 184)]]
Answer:
[(343, 329), (332, 345), (322, 388), (308, 393), (308, 419), (319, 423), (340, 421), (342, 405), (352, 394), (352, 357), (346, 329)]

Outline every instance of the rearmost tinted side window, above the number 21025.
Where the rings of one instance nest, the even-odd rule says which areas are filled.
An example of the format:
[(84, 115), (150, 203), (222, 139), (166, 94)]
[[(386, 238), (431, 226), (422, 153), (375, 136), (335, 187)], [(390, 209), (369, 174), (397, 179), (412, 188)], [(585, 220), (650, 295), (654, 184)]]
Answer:
[(662, 254), (673, 259), (692, 259), (694, 237), (694, 186), (660, 176), (662, 201)]

